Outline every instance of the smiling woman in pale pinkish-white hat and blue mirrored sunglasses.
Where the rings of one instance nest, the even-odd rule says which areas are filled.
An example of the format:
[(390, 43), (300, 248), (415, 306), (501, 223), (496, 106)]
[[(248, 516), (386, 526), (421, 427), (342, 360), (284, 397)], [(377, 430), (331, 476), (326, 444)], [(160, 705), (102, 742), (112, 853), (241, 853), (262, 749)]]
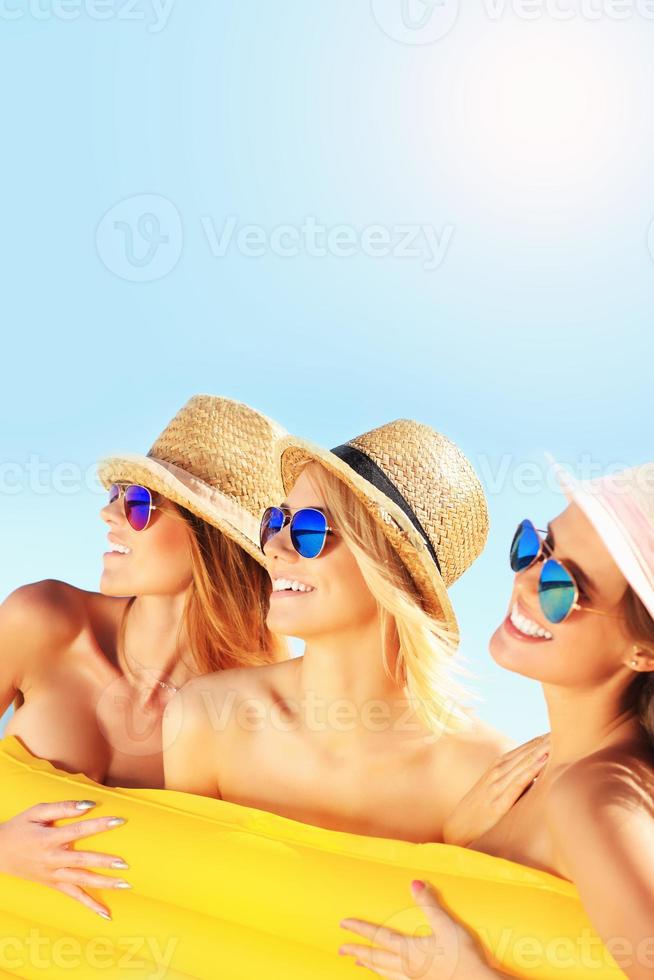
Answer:
[[(572, 881), (625, 976), (650, 980), (654, 463), (584, 483), (559, 473), (569, 506), (546, 536), (531, 521), (519, 525), (511, 547), (513, 593), (490, 643), (497, 663), (543, 685), (550, 758), (538, 781), (514, 806), (503, 807), (499, 819), (492, 801), (504, 777), (494, 767), (457, 819), (470, 847)], [(393, 980), (505, 975), (448, 916), (430, 884), (412, 887), (431, 936), (408, 939), (348, 919), (342, 925), (374, 945), (348, 943), (342, 951)], [(571, 975), (569, 950), (542, 952), (552, 958), (540, 963), (550, 966), (549, 976)], [(603, 976), (605, 953), (595, 948), (587, 955)]]

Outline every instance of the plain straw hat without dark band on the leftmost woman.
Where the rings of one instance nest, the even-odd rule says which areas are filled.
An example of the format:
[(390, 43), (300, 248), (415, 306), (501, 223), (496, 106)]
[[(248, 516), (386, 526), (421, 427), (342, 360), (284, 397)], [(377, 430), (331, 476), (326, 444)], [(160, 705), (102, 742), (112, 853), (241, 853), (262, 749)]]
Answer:
[(195, 395), (166, 426), (146, 456), (110, 456), (100, 482), (140, 483), (217, 527), (260, 564), (259, 522), (283, 495), (273, 453), (286, 430), (249, 405)]

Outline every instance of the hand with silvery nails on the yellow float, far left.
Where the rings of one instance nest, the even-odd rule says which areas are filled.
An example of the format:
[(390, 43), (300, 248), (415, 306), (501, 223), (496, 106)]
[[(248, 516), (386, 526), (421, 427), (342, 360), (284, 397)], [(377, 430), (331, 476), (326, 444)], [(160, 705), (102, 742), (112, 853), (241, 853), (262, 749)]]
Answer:
[(78, 851), (75, 841), (103, 833), (125, 823), (120, 817), (80, 820), (53, 827), (55, 820), (79, 817), (95, 806), (88, 800), (39, 803), (0, 824), (0, 872), (56, 888), (81, 902), (92, 912), (110, 919), (109, 910), (96, 902), (85, 888), (130, 888), (121, 878), (87, 871), (87, 868), (119, 868), (128, 865), (113, 854)]

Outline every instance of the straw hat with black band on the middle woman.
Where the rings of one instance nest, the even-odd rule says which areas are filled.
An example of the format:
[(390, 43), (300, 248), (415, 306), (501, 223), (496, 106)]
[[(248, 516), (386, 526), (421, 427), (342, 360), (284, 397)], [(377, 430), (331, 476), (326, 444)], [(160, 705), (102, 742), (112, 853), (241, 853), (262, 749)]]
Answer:
[(285, 492), (311, 461), (342, 480), (400, 556), (424, 608), (458, 632), (447, 589), (481, 554), (488, 508), (471, 464), (453, 442), (428, 425), (398, 419), (331, 451), (287, 436), (276, 454)]

